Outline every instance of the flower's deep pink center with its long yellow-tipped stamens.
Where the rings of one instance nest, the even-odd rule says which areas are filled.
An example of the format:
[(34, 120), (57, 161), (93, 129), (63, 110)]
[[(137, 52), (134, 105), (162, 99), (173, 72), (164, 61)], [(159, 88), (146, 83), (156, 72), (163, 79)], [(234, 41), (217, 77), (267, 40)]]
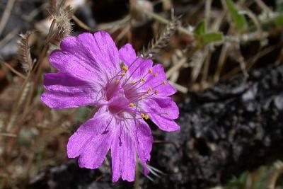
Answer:
[[(139, 57), (138, 57), (139, 58)], [(137, 59), (138, 59), (137, 58)], [(136, 59), (136, 60), (137, 60)], [(136, 62), (134, 60), (134, 62)], [(127, 67), (122, 64), (121, 70), (113, 76), (103, 88), (103, 97), (108, 101), (109, 110), (113, 115), (125, 118), (127, 115), (136, 115), (139, 113), (141, 118), (148, 119), (148, 113), (141, 112), (139, 108), (139, 102), (157, 96), (158, 91), (156, 88), (161, 85), (165, 85), (166, 81), (163, 81), (158, 86), (151, 86), (151, 79), (157, 76), (152, 69), (145, 71), (145, 74), (141, 74), (138, 78), (137, 75), (133, 77), (137, 71), (141, 72), (140, 67), (146, 60), (142, 59), (142, 62), (137, 67), (131, 69), (132, 64)], [(129, 73), (129, 69), (131, 70)]]

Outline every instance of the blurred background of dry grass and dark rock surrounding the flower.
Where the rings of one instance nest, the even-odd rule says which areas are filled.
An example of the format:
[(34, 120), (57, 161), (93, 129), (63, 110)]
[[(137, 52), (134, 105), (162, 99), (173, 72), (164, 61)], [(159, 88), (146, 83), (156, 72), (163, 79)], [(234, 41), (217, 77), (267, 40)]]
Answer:
[[(67, 159), (92, 107), (40, 101), (50, 52), (97, 30), (178, 90), (181, 131), (149, 122), (150, 173), (134, 183), (111, 182), (110, 156), (96, 170)], [(0, 0), (0, 188), (283, 188), (282, 31), (282, 0)]]

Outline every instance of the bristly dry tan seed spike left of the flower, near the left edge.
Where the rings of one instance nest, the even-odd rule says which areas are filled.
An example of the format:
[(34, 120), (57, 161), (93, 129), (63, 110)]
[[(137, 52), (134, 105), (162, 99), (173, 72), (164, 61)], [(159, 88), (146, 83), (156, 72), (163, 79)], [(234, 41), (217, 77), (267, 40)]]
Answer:
[(33, 69), (33, 60), (30, 57), (30, 47), (28, 46), (28, 40), (33, 33), (35, 32), (27, 31), (25, 34), (21, 34), (21, 40), (18, 41), (18, 59), (25, 73)]

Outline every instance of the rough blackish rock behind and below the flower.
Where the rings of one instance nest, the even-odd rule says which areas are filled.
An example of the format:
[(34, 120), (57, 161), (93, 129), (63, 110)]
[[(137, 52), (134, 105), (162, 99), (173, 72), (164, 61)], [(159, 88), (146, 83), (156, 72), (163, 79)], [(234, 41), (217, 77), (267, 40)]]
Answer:
[[(282, 89), (283, 66), (279, 66), (251, 71), (248, 81), (238, 76), (204, 93), (191, 93), (180, 104), (181, 131), (154, 131), (154, 139), (164, 142), (154, 144), (150, 165), (166, 175), (150, 175), (154, 182), (140, 176), (141, 188), (204, 188), (282, 158)], [(71, 167), (50, 169), (33, 186), (51, 181), (58, 184), (54, 188), (59, 183), (69, 188), (132, 185), (112, 184), (109, 173), (81, 169), (74, 163), (65, 166)]]

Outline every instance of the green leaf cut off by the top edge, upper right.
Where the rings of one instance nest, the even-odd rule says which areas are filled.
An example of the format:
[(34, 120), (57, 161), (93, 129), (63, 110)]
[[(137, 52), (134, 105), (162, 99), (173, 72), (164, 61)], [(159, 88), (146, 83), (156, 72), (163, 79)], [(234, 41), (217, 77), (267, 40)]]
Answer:
[(246, 30), (248, 25), (245, 16), (238, 13), (238, 10), (232, 0), (226, 0), (226, 4), (236, 28), (238, 28), (238, 30)]

